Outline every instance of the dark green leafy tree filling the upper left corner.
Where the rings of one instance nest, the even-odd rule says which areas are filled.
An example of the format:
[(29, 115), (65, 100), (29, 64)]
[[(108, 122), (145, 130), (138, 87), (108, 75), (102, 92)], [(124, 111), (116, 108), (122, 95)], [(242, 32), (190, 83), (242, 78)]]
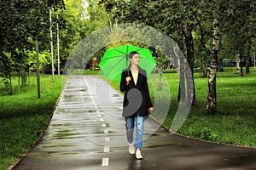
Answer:
[[(20, 71), (26, 69), (26, 50), (32, 50), (34, 43), (31, 39), (45, 37), (48, 26), (48, 7), (60, 5), (63, 1), (25, 1), (11, 0), (0, 3), (0, 32), (1, 32), (1, 65), (9, 65), (4, 68), (3, 76), (9, 80), (11, 87), (11, 71), (17, 71), (20, 80)], [(47, 20), (47, 21), (46, 21)], [(8, 54), (8, 56), (6, 55)], [(9, 94), (13, 94), (9, 88)]]

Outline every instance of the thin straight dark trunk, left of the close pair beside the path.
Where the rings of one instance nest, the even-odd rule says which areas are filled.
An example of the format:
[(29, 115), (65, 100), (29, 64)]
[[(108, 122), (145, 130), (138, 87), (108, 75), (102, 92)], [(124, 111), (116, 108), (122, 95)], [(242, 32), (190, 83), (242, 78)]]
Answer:
[[(180, 48), (179, 53), (183, 52), (183, 23), (179, 24), (178, 32), (178, 47)], [(185, 75), (184, 75), (184, 59), (182, 54), (178, 54), (179, 59), (179, 88), (177, 94), (177, 101), (185, 100)]]

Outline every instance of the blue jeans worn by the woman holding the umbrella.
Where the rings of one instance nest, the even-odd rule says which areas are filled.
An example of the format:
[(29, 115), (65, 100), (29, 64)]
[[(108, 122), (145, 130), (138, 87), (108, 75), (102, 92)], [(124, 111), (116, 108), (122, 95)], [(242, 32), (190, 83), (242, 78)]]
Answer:
[(135, 147), (140, 149), (143, 147), (144, 120), (144, 116), (138, 116), (138, 113), (137, 117), (125, 117), (127, 140), (130, 144), (133, 142), (134, 122), (136, 122)]

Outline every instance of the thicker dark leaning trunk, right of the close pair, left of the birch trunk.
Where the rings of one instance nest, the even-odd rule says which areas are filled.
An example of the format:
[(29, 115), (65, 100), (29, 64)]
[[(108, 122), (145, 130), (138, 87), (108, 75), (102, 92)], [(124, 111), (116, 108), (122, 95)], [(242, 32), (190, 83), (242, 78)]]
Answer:
[(188, 96), (192, 99), (192, 105), (195, 106), (195, 82), (194, 82), (194, 43), (193, 43), (193, 37), (192, 32), (189, 29), (189, 23), (188, 20), (183, 20), (183, 32), (185, 35), (185, 42), (186, 42), (186, 51), (187, 51), (187, 59), (189, 63), (189, 69), (191, 72), (191, 78), (189, 76), (186, 76), (187, 85), (188, 85)]

